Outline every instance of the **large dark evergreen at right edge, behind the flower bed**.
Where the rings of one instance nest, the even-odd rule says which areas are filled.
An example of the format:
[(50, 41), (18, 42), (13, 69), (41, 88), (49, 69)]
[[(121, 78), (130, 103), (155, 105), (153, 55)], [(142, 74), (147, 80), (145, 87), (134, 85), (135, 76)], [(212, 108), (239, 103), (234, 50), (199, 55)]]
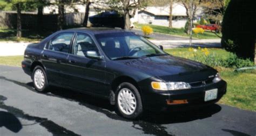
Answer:
[(255, 56), (255, 0), (232, 0), (223, 17), (221, 45), (238, 57)]

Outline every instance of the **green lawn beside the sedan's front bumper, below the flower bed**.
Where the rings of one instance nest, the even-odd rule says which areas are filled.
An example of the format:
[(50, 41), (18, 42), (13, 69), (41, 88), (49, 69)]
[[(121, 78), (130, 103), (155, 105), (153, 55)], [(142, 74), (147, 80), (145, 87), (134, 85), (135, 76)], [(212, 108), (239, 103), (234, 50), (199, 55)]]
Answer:
[(256, 111), (256, 70), (224, 70), (220, 74), (227, 81), (227, 93), (219, 103)]

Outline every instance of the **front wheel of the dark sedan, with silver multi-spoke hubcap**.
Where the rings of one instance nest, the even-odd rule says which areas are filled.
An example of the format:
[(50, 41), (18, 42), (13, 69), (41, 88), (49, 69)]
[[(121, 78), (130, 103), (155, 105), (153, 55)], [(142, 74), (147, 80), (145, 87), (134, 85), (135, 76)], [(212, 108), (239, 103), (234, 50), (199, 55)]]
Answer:
[[(142, 115), (142, 98), (134, 85), (126, 82), (120, 84), (117, 87), (115, 96), (117, 112), (124, 118), (137, 119)], [(127, 100), (128, 98), (130, 100)]]

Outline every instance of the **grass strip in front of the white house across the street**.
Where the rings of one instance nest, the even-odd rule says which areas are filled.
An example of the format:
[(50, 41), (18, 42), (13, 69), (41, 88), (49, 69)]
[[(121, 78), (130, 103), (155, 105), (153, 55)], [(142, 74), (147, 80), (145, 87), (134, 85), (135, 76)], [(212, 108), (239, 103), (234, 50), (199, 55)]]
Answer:
[[(153, 32), (159, 32), (159, 33), (165, 33), (165, 34), (169, 34), (169, 35), (177, 35), (177, 36), (184, 36), (184, 37), (189, 37), (185, 32), (184, 29), (177, 29), (177, 28), (168, 28), (166, 26), (159, 26), (159, 25), (150, 25), (150, 24), (137, 24), (134, 23), (135, 28), (137, 29), (141, 29), (142, 26), (144, 25), (149, 25), (152, 29)], [(220, 35), (221, 36), (221, 35)], [(193, 38), (199, 38), (199, 39), (218, 39), (219, 37), (217, 37), (214, 33), (210, 32), (210, 31), (205, 31), (203, 34), (199, 33), (198, 36), (196, 36), (194, 33), (192, 35)]]

